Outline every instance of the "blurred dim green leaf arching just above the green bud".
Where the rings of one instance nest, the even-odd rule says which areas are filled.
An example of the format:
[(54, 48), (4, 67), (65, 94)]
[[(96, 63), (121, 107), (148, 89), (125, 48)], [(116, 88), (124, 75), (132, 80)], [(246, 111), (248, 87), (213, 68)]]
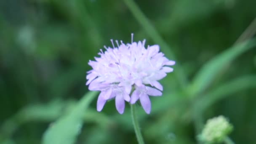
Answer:
[(219, 86), (196, 101), (195, 107), (203, 112), (216, 101), (232, 96), (233, 93), (243, 91), (248, 88), (256, 88), (256, 75), (244, 76), (232, 80), (229, 83)]

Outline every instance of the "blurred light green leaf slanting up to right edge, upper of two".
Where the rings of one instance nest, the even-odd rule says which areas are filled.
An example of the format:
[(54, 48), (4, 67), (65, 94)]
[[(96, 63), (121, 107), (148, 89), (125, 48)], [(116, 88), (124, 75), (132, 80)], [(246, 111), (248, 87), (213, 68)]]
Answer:
[(217, 55), (199, 70), (195, 76), (192, 85), (189, 87), (189, 93), (191, 96), (195, 96), (203, 92), (216, 76), (237, 56), (241, 55), (250, 48), (256, 46), (256, 39), (246, 41), (244, 43), (237, 44), (223, 53)]

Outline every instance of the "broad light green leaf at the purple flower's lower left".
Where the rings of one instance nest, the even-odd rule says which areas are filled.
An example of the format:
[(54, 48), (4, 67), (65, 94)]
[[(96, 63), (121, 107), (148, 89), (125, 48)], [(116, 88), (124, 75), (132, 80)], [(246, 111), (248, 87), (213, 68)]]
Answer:
[(85, 94), (69, 114), (51, 124), (43, 135), (43, 144), (74, 144), (83, 125), (85, 109), (96, 93), (93, 91)]

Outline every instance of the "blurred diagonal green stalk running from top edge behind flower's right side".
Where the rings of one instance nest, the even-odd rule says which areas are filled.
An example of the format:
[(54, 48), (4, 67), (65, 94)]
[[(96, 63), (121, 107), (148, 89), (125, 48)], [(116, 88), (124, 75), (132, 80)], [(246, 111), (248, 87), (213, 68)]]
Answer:
[[(135, 19), (141, 24), (141, 27), (145, 29), (145, 32), (152, 38), (152, 40), (161, 46), (161, 50), (165, 53), (166, 56), (170, 57), (171, 59), (176, 60), (171, 48), (168, 44), (163, 40), (157, 30), (153, 27), (150, 23), (149, 19), (144, 15), (144, 13), (140, 10), (138, 5), (133, 0), (124, 0), (124, 3), (130, 9), (131, 13), (135, 17)], [(175, 66), (176, 72), (174, 73), (178, 78), (178, 83), (180, 83), (182, 88), (185, 88), (187, 85), (187, 77), (184, 71), (181, 69), (179, 65)]]

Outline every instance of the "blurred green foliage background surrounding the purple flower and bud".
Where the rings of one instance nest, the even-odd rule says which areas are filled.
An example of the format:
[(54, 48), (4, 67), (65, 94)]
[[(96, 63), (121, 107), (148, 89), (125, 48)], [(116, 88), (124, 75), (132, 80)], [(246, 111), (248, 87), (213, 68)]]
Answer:
[(151, 114), (137, 106), (146, 144), (196, 144), (205, 121), (218, 115), (233, 124), (236, 144), (256, 144), (255, 6), (1, 0), (0, 144), (136, 144), (128, 103), (123, 115), (114, 101), (97, 112), (98, 93), (84, 96), (89, 59), (110, 39), (130, 43), (131, 33), (176, 61), (160, 81), (163, 96), (150, 98)]

